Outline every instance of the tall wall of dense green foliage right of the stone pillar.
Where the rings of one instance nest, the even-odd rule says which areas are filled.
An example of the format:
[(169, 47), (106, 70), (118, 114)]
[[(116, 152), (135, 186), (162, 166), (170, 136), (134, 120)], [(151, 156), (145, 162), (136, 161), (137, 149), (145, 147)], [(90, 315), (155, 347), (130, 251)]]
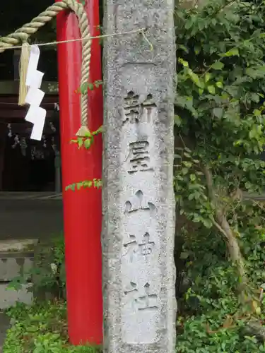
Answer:
[(175, 16), (177, 352), (265, 352), (265, 4)]

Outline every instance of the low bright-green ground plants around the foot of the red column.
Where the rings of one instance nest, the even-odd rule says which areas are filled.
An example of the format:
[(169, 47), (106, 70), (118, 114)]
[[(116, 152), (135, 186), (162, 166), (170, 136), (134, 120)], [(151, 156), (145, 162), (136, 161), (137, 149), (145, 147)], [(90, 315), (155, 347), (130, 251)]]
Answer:
[(18, 304), (7, 313), (13, 325), (7, 332), (4, 353), (100, 352), (96, 347), (69, 345), (64, 302)]

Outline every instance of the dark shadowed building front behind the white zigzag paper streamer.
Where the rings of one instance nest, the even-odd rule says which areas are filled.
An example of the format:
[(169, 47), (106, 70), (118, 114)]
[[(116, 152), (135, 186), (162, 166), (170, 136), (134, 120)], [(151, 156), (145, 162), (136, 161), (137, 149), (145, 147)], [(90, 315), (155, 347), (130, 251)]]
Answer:
[(57, 52), (42, 50), (40, 57), (39, 69), (45, 72), (41, 107), (47, 110), (41, 141), (30, 140), (28, 107), (18, 106), (19, 57), (20, 51), (13, 50), (0, 55), (0, 191), (58, 191)]

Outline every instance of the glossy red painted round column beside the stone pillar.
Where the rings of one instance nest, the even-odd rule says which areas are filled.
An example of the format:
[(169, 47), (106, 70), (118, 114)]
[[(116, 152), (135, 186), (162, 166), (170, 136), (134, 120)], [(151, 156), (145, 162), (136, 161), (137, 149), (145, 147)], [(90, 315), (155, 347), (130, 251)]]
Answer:
[[(99, 35), (98, 0), (86, 0), (92, 36)], [(74, 13), (57, 16), (57, 40), (80, 37)], [(100, 43), (92, 41), (90, 82), (101, 80)], [(95, 136), (90, 150), (70, 143), (80, 127), (81, 42), (58, 44), (61, 163), (63, 190), (69, 184), (101, 179), (102, 140)], [(102, 90), (88, 92), (88, 127), (102, 125)], [(66, 294), (69, 337), (73, 345), (102, 342), (102, 269), (100, 232), (101, 190), (63, 191), (66, 244)]]

